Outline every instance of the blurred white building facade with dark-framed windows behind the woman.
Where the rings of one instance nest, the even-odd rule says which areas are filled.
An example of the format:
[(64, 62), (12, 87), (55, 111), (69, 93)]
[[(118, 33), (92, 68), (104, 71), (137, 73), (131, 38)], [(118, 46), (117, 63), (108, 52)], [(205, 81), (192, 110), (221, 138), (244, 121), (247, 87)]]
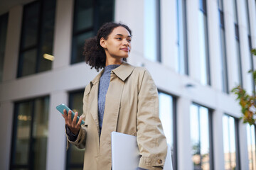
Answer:
[(256, 169), (255, 126), (230, 93), (253, 91), (255, 0), (0, 2), (0, 169), (82, 169), (55, 106), (82, 113), (96, 75), (82, 46), (102, 23), (132, 29), (130, 64), (159, 89), (174, 169)]

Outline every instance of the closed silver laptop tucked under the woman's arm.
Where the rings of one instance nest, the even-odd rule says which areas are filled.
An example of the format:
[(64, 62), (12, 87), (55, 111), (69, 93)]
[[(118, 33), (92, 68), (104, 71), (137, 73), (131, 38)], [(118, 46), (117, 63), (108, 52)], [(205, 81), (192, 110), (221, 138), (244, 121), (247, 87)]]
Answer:
[[(139, 149), (135, 136), (112, 132), (112, 170), (136, 170), (139, 165)], [(164, 170), (173, 170), (171, 148), (168, 145)]]

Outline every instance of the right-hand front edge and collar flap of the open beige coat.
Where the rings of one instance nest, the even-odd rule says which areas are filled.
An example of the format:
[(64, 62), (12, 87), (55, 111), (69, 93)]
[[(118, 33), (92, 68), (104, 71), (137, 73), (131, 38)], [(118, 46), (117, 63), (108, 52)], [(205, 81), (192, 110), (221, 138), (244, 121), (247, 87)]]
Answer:
[(132, 74), (134, 67), (127, 63), (112, 70), (110, 86), (105, 99), (102, 132), (100, 135), (100, 166), (98, 169), (111, 169), (111, 132), (117, 131), (117, 120), (122, 98), (122, 91), (127, 77)]

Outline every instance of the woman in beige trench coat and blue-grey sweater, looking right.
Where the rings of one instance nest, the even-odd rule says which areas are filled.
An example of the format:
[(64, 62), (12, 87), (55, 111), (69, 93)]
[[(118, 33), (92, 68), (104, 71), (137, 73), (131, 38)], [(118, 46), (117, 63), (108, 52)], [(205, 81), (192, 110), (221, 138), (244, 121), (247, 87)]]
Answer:
[[(64, 111), (68, 143), (85, 148), (84, 169), (111, 169), (111, 132), (137, 136), (138, 169), (162, 169), (167, 152), (159, 120), (158, 93), (149, 72), (127, 64), (132, 31), (105, 23), (85, 42), (85, 61), (102, 72), (85, 87), (83, 114)], [(78, 113), (75, 113), (78, 115)], [(104, 117), (103, 117), (104, 115)], [(84, 125), (80, 125), (81, 120)]]

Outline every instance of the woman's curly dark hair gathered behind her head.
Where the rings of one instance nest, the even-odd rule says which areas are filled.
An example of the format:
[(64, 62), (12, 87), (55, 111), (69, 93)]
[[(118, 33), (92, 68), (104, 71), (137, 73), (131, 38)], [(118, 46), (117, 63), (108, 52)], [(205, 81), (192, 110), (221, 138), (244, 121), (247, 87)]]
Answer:
[[(100, 45), (100, 38), (107, 40), (108, 35), (112, 33), (112, 30), (119, 26), (127, 29), (130, 35), (132, 35), (132, 30), (130, 30), (128, 26), (122, 23), (111, 22), (103, 24), (102, 27), (98, 30), (97, 36), (85, 40), (84, 52), (82, 55), (85, 56), (85, 62), (91, 66), (91, 69), (94, 67), (97, 72), (99, 72), (99, 69), (105, 67), (106, 54), (104, 48)], [(123, 58), (123, 60), (126, 61), (126, 58)]]

